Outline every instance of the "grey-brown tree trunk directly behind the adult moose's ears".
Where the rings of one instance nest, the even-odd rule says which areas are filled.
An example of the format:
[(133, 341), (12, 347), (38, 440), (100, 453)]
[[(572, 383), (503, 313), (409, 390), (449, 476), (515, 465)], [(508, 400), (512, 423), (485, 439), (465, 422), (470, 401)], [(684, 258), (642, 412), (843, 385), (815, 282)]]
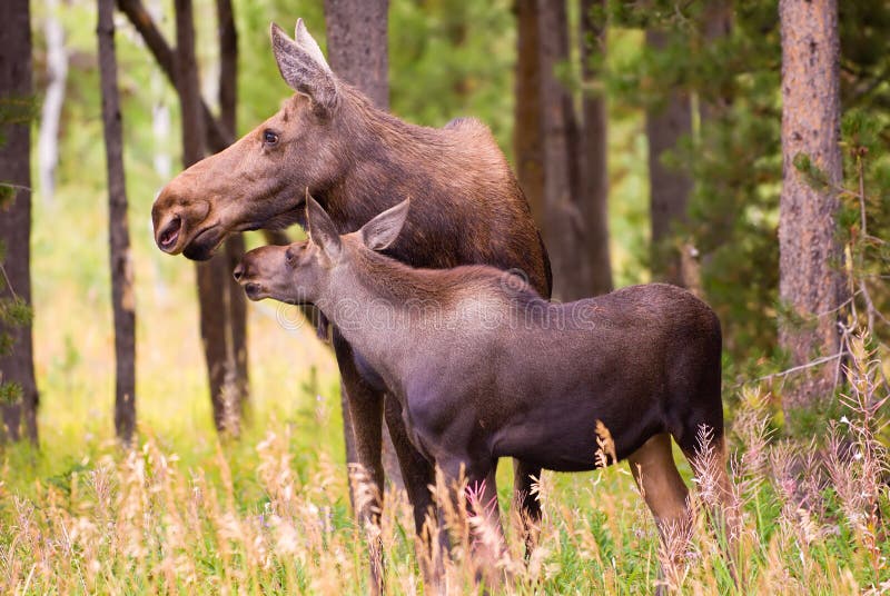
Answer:
[[(327, 58), (332, 70), (384, 110), (389, 107), (388, 8), (388, 0), (325, 0)], [(346, 463), (355, 464), (358, 455), (343, 384), (340, 406)], [(386, 425), (383, 427), (383, 467), (386, 478), (398, 487), (404, 486)]]

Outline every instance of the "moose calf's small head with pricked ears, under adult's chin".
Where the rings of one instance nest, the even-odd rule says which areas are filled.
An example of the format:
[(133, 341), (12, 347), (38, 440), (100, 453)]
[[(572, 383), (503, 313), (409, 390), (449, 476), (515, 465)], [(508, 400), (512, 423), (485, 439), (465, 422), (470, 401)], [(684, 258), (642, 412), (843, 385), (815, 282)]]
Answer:
[[(235, 279), (248, 298), (273, 298), (288, 304), (320, 304), (328, 296), (330, 280), (360, 261), (360, 252), (383, 250), (398, 237), (411, 201), (387, 209), (358, 231), (339, 236), (318, 202), (306, 198), (309, 239), (290, 246), (265, 246), (244, 256)], [(320, 305), (323, 310), (325, 305)]]

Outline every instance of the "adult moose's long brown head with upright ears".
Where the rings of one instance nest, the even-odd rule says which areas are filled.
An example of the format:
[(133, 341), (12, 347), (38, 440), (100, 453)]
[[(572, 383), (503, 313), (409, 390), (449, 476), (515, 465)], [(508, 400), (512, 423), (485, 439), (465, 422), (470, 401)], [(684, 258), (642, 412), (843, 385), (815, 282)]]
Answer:
[(301, 19), (293, 40), (273, 23), (271, 42), (296, 93), (278, 113), (161, 190), (151, 219), (165, 252), (205, 260), (229, 234), (290, 226), (301, 215), (304, 191), (336, 178), (338, 81)]

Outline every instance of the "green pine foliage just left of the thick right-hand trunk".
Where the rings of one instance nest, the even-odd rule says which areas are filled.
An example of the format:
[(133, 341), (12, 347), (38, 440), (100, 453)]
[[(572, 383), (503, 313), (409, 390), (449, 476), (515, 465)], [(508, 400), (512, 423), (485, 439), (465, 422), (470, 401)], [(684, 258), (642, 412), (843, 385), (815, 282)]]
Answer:
[(657, 110), (669, 90), (686, 90), (702, 110), (692, 137), (662, 156), (694, 180), (689, 220), (676, 236), (699, 250), (702, 286), (723, 322), (726, 348), (756, 357), (775, 341), (779, 29), (775, 2), (732, 6), (730, 34), (708, 38), (705, 2), (656, 1), (646, 9), (609, 2), (613, 27), (656, 28), (666, 40), (604, 77), (616, 102)]

